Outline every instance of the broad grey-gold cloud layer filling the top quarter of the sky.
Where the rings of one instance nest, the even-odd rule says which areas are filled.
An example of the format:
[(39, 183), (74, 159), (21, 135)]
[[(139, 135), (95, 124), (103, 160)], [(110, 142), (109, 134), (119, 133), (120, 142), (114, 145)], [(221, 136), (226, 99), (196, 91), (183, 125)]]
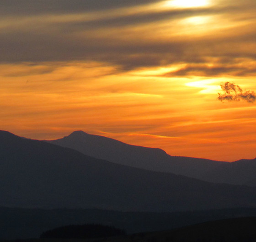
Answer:
[[(142, 8), (161, 2), (3, 0), (0, 62), (83, 60), (124, 70), (184, 62), (187, 69), (176, 76), (219, 76), (235, 70), (225, 63), (208, 67), (209, 56), (256, 59), (253, 1), (243, 4), (242, 10), (233, 2), (198, 9)], [(202, 17), (203, 22), (189, 22), (193, 17)], [(212, 21), (204, 22), (208, 17)], [(245, 66), (235, 68), (235, 76), (254, 72)]]

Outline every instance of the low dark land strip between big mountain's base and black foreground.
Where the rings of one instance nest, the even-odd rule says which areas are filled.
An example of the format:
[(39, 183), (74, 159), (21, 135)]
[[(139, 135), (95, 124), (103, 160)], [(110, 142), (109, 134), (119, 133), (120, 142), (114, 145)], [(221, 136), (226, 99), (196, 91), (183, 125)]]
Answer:
[(70, 224), (103, 224), (128, 234), (169, 231), (192, 224), (256, 216), (256, 208), (234, 208), (188, 212), (122, 212), (101, 209), (24, 209), (0, 207), (0, 240), (39, 238), (56, 227)]

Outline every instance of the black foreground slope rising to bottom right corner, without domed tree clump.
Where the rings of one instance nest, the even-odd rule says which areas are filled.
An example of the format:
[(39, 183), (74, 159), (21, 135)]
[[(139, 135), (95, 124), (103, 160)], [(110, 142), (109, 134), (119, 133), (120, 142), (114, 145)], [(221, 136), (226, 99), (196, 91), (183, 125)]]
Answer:
[(169, 231), (120, 237), (31, 239), (16, 242), (256, 242), (256, 217), (211, 221)]

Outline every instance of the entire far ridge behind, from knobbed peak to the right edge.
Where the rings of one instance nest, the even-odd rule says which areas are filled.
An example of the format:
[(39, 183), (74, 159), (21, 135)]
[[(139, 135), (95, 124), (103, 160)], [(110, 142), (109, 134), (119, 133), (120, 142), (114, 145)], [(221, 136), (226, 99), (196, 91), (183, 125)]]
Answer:
[(171, 156), (162, 149), (125, 144), (104, 136), (75, 131), (62, 139), (47, 141), (98, 159), (146, 170), (185, 175), (214, 183), (256, 186), (256, 159), (221, 162)]

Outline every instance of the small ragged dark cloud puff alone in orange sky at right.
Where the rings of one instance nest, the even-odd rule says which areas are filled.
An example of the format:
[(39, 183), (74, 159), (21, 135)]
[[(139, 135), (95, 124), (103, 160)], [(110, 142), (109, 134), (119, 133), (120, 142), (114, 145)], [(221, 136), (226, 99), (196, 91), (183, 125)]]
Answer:
[(256, 94), (253, 91), (243, 91), (238, 85), (231, 82), (225, 82), (220, 85), (223, 93), (219, 94), (219, 101), (240, 101), (245, 100), (248, 103), (254, 103), (256, 101)]

